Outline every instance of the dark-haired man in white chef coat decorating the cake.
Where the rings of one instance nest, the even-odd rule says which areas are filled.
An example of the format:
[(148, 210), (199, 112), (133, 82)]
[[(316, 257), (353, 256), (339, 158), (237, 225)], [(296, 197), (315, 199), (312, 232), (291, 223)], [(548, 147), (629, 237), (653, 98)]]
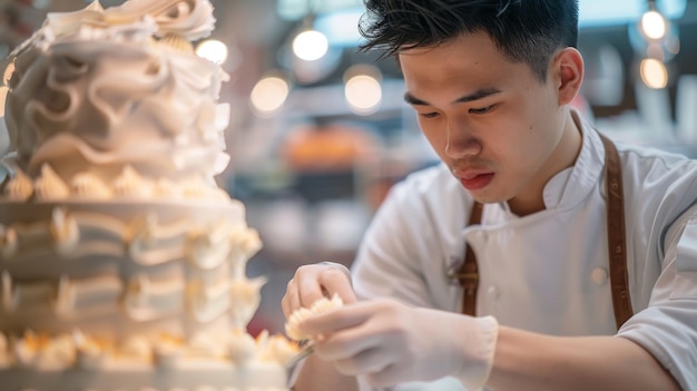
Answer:
[(697, 390), (697, 163), (616, 153), (569, 107), (577, 1), (366, 7), (443, 164), (392, 189), (353, 282), (322, 263), (288, 283), (286, 316), (346, 303), (301, 323), (295, 390)]

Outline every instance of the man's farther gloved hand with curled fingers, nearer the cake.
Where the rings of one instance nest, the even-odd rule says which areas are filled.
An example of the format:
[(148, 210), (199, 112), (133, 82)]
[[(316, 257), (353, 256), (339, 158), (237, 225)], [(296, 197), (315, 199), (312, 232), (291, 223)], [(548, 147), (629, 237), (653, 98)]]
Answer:
[(295, 310), (310, 307), (317, 300), (332, 297), (334, 294), (344, 304), (356, 302), (351, 273), (346, 266), (333, 262), (301, 266), (295, 271), (295, 276), (288, 282), (286, 293), (281, 300), (283, 313), (288, 319)]

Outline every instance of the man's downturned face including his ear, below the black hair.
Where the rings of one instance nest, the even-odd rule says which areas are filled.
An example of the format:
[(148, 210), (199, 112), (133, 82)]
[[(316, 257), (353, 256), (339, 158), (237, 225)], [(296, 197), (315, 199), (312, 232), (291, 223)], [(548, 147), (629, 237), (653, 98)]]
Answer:
[(544, 81), (484, 33), (403, 50), (399, 60), (423, 134), (475, 199), (508, 201), (526, 213), (573, 164), (580, 135), (566, 105), (582, 78), (575, 49), (550, 60)]

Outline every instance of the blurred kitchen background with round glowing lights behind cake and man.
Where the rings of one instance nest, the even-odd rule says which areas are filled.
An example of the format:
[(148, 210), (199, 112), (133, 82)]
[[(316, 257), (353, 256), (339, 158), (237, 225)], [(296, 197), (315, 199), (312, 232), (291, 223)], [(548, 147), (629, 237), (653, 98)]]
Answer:
[[(0, 57), (47, 12), (89, 2), (0, 0)], [(361, 0), (212, 3), (216, 30), (197, 48), (230, 75), (220, 100), (233, 107), (232, 164), (218, 180), (264, 241), (248, 265), (269, 278), (251, 332), (281, 332), (295, 268), (350, 265), (390, 187), (436, 157), (394, 60), (356, 51)], [(587, 75), (576, 105), (600, 130), (697, 157), (697, 0), (580, 0), (579, 49)]]

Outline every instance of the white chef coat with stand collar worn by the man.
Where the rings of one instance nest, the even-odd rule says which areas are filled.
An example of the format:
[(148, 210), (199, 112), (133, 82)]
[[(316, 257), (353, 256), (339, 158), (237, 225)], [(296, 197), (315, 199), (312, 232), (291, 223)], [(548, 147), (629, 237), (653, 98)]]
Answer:
[(651, 352), (683, 389), (697, 390), (697, 160), (617, 144), (635, 312), (618, 332), (609, 285), (605, 149), (597, 131), (573, 117), (583, 135), (580, 155), (546, 185), (546, 209), (539, 213), (519, 217), (507, 203), (487, 204), (482, 223), (467, 227), (472, 197), (444, 165), (395, 185), (352, 266), (356, 294), (460, 312), (462, 290), (448, 274), (463, 261), (467, 241), (480, 271), (478, 315), (544, 334), (628, 338)]

